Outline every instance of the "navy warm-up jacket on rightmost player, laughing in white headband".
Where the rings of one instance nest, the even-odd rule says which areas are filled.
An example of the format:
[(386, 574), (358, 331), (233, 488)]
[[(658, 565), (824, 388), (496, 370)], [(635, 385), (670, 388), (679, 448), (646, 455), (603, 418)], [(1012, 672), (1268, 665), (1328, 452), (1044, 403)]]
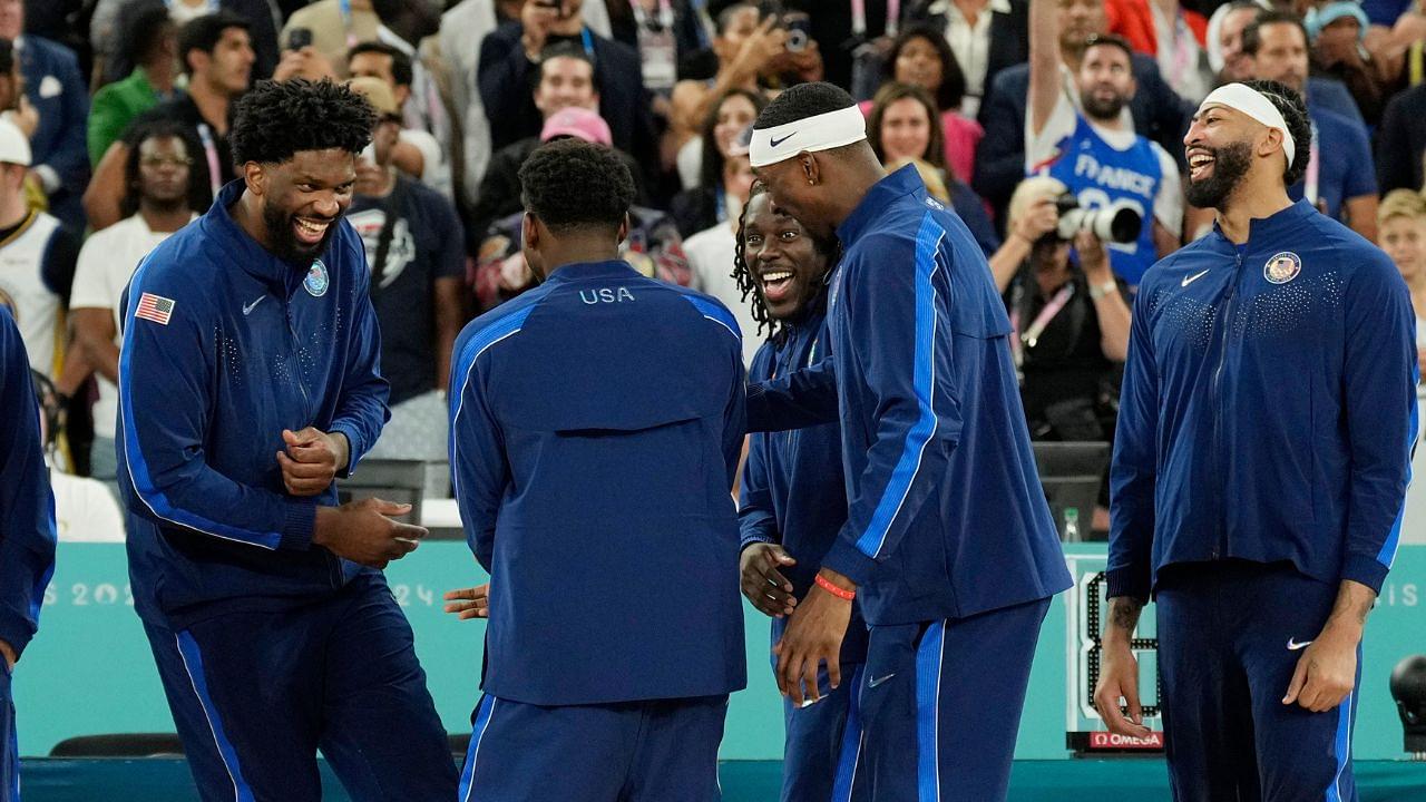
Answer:
[(1111, 597), (1176, 562), (1289, 561), (1373, 591), (1416, 442), (1416, 318), (1392, 260), (1298, 201), (1139, 285), (1111, 469)]

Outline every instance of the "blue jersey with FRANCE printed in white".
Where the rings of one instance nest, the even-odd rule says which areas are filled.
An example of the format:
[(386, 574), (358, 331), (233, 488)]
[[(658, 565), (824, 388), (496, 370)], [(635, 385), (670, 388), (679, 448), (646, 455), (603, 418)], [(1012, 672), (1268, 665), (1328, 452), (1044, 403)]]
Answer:
[(1114, 273), (1131, 287), (1158, 261), (1154, 245), (1154, 197), (1158, 196), (1164, 167), (1154, 146), (1134, 137), (1128, 150), (1117, 150), (1085, 120), (1075, 114), (1074, 133), (1060, 140), (1057, 154), (1041, 173), (1062, 181), (1079, 198), (1079, 205), (1098, 208), (1114, 201), (1129, 201), (1144, 217), (1139, 238), (1132, 243), (1105, 243)]

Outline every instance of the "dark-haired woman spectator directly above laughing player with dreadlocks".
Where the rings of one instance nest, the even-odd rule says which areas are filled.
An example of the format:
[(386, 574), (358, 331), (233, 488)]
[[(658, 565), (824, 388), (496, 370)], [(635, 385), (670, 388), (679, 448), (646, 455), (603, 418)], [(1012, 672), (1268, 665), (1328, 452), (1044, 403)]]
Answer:
[[(669, 214), (677, 223), (679, 234), (690, 237), (719, 223), (737, 220), (742, 204), (727, 196), (724, 161), (734, 154), (739, 134), (757, 120), (764, 103), (763, 94), (756, 90), (732, 88), (712, 104), (699, 136), (703, 148), (699, 183), (674, 196), (669, 204)], [(746, 147), (742, 153), (747, 153)], [(739, 301), (729, 304), (729, 308), (743, 305), (746, 304)]]

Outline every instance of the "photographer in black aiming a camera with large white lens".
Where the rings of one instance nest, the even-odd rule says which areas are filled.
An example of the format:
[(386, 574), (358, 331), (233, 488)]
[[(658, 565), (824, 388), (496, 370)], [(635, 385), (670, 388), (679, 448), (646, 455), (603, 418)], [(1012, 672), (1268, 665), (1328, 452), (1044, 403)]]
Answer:
[(1011, 352), (1032, 440), (1109, 440), (1108, 390), (1128, 354), (1129, 307), (1104, 241), (1077, 210), (1061, 211), (1065, 190), (1055, 178), (1031, 177), (1011, 197), (1010, 238), (1031, 238), (1004, 288)]

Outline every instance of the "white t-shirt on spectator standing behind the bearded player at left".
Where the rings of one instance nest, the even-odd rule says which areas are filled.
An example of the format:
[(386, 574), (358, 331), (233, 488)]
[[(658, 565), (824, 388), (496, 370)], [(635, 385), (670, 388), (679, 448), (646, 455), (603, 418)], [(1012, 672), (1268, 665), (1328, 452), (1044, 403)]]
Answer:
[[(143, 215), (135, 214), (90, 234), (80, 248), (78, 264), (74, 267), (74, 287), (70, 290), (70, 308), (110, 310), (114, 315), (116, 347), (120, 344), (118, 301), (124, 288), (128, 287), (138, 263), (168, 237), (171, 234), (164, 231), (150, 231)], [(94, 402), (94, 434), (113, 440), (114, 420), (118, 415), (118, 388), (101, 375), (96, 378), (98, 401)]]

